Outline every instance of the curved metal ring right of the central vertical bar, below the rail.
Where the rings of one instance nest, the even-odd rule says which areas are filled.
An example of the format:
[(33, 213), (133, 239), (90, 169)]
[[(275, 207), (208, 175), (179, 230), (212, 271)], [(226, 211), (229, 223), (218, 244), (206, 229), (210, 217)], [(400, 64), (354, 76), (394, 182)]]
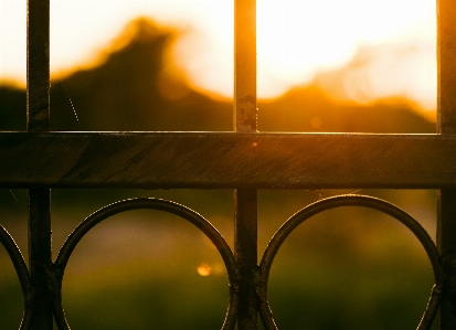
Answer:
[(274, 234), (274, 237), (271, 239), (263, 254), (258, 275), (258, 296), (261, 299), (259, 313), (265, 328), (267, 330), (277, 329), (277, 326), (275, 324), (273, 319), (269, 302), (267, 301), (267, 281), (269, 277), (271, 266), (275, 255), (278, 252), (278, 248), (282, 246), (288, 235), (304, 221), (320, 212), (341, 206), (364, 206), (389, 214), (403, 223), (418, 238), (431, 260), (434, 270), (435, 285), (433, 287), (428, 305), (423, 315), (423, 318), (420, 321), (417, 330), (430, 329), (438, 309), (444, 279), (444, 270), (437, 247), (435, 246), (427, 232), (421, 226), (421, 224), (400, 207), (380, 199), (353, 194), (339, 195), (315, 202), (295, 213)]

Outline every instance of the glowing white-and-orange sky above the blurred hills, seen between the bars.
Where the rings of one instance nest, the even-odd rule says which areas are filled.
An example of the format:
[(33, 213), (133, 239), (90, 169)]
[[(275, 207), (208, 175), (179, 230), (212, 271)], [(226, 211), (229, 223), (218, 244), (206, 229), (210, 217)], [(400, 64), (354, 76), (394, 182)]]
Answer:
[[(25, 3), (0, 0), (3, 81), (25, 81)], [(51, 0), (52, 74), (95, 58), (139, 15), (189, 31), (176, 61), (198, 88), (232, 95), (233, 1), (225, 0)], [(435, 109), (435, 0), (257, 0), (258, 96), (338, 70), (363, 49), (337, 77), (337, 97), (406, 96)]]

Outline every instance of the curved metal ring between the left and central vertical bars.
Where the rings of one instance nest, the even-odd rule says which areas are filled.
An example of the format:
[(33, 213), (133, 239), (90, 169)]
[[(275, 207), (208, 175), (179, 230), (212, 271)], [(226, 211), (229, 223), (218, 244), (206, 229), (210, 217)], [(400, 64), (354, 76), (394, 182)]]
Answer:
[(57, 297), (54, 304), (54, 317), (55, 322), (60, 330), (70, 329), (64, 311), (62, 306), (62, 280), (63, 274), (68, 262), (71, 254), (73, 253), (76, 245), (79, 241), (84, 237), (84, 235), (92, 230), (95, 225), (100, 223), (102, 221), (119, 214), (126, 211), (132, 210), (141, 210), (141, 209), (149, 209), (149, 210), (158, 210), (165, 211), (184, 220), (189, 221), (198, 228), (200, 228), (215, 245), (221, 254), (223, 262), (225, 263), (229, 280), (230, 280), (230, 300), (229, 300), (229, 308), (226, 311), (225, 320), (222, 326), (222, 330), (234, 329), (236, 322), (236, 311), (237, 311), (237, 291), (238, 291), (238, 274), (237, 274), (237, 266), (236, 260), (234, 258), (233, 252), (231, 251), (230, 246), (227, 245), (226, 241), (223, 236), (219, 233), (219, 231), (202, 215), (188, 209), (181, 204), (160, 200), (160, 199), (152, 199), (152, 198), (138, 198), (131, 200), (119, 201), (113, 204), (109, 204), (95, 213), (91, 214), (86, 217), (68, 236), (66, 242), (63, 244), (59, 256), (55, 260), (55, 268), (57, 272)]

